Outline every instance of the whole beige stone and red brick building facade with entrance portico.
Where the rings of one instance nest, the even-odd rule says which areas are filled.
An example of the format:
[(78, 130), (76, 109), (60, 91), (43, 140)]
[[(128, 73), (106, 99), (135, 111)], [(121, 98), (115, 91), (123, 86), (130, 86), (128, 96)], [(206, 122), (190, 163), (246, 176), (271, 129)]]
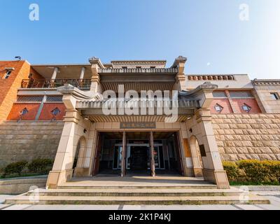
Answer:
[[(0, 62), (0, 166), (53, 158), (50, 188), (73, 176), (131, 172), (204, 176), (228, 188), (222, 160), (280, 160), (280, 80), (186, 74), (186, 60), (169, 68), (162, 60), (103, 64), (95, 57), (89, 64)], [(115, 97), (104, 97), (109, 90)], [(171, 95), (133, 101), (144, 90)], [(178, 114), (119, 113), (127, 102)], [(105, 114), (108, 104), (118, 113)]]

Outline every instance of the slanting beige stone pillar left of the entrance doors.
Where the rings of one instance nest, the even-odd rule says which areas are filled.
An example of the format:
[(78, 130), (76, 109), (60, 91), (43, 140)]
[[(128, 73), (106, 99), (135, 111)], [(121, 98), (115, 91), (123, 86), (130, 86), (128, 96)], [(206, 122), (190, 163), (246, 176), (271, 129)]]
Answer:
[(59, 183), (69, 181), (73, 174), (73, 160), (76, 148), (74, 135), (77, 132), (79, 114), (76, 109), (66, 109), (62, 137), (57, 148), (57, 155), (52, 171), (48, 175), (47, 188), (57, 188)]

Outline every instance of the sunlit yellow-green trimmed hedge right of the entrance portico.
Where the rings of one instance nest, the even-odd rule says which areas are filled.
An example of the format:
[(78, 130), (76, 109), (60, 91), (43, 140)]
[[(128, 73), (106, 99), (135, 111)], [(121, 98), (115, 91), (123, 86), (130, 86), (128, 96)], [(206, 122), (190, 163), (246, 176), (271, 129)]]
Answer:
[(280, 161), (240, 160), (223, 162), (229, 181), (268, 184), (280, 181)]

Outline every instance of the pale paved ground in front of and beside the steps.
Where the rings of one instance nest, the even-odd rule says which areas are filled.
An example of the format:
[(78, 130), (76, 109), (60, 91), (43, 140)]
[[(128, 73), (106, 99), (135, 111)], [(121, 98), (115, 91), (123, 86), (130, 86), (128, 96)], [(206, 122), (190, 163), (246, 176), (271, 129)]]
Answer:
[[(265, 196), (271, 204), (258, 205), (30, 205), (1, 204), (10, 195), (0, 195), (0, 210), (280, 210), (280, 191), (254, 192)], [(13, 196), (12, 196), (13, 197)]]

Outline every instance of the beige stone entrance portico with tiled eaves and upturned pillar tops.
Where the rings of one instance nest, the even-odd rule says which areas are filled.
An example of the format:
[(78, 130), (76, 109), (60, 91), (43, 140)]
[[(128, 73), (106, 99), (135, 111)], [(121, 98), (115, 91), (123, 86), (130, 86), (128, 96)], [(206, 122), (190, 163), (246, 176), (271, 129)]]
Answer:
[[(179, 58), (174, 63), (178, 67), (167, 71), (155, 69), (153, 72), (166, 72), (167, 83), (174, 82), (173, 88), (181, 90), (183, 61)], [(195, 90), (181, 91), (176, 101), (172, 98), (162, 98), (147, 99), (144, 103), (143, 99), (123, 99), (119, 102), (116, 99), (102, 98), (102, 88), (104, 90), (110, 86), (111, 74), (108, 75), (108, 69), (100, 68), (102, 66), (100, 63), (96, 59), (92, 62), (90, 91), (78, 90), (69, 84), (57, 88), (63, 94), (66, 116), (55, 164), (48, 176), (48, 188), (57, 188), (71, 180), (73, 176), (86, 178), (100, 175), (106, 170), (108, 172), (108, 169), (111, 169), (111, 172), (116, 170), (116, 174), (121, 177), (127, 176), (132, 171), (148, 172), (151, 177), (155, 177), (157, 170), (172, 167), (176, 167), (176, 172), (182, 176), (203, 176), (206, 181), (215, 183), (218, 188), (229, 188), (208, 109), (216, 85), (204, 83)], [(120, 78), (118, 71), (111, 69), (111, 73), (115, 73), (116, 80), (120, 83), (125, 82), (125, 79)], [(104, 78), (106, 85), (102, 85), (100, 73), (106, 77)], [(137, 80), (140, 74), (139, 70), (132, 69), (128, 77)], [(121, 76), (123, 77), (123, 73)], [(148, 77), (141, 76), (141, 83), (137, 85), (139, 87), (141, 84), (140, 89), (145, 89), (144, 84), (148, 83), (145, 78)], [(153, 86), (155, 88), (166, 86), (164, 83), (156, 83), (155, 80), (152, 83), (157, 84)], [(125, 83), (124, 86), (128, 88), (130, 83)], [(120, 92), (117, 92), (117, 95), (120, 97)], [(132, 115), (104, 114), (104, 106), (121, 111), (119, 110), (121, 107), (130, 107), (129, 103), (140, 105), (139, 111), (150, 109), (157, 111), (159, 105), (167, 104), (172, 108), (176, 107), (178, 114), (175, 120), (170, 120), (170, 116), (162, 113), (142, 115), (134, 111)], [(144, 137), (135, 137), (137, 133)], [(160, 134), (162, 137), (158, 137)], [(192, 139), (197, 139), (197, 144), (193, 144)], [(76, 167), (73, 167), (76, 155)]]

